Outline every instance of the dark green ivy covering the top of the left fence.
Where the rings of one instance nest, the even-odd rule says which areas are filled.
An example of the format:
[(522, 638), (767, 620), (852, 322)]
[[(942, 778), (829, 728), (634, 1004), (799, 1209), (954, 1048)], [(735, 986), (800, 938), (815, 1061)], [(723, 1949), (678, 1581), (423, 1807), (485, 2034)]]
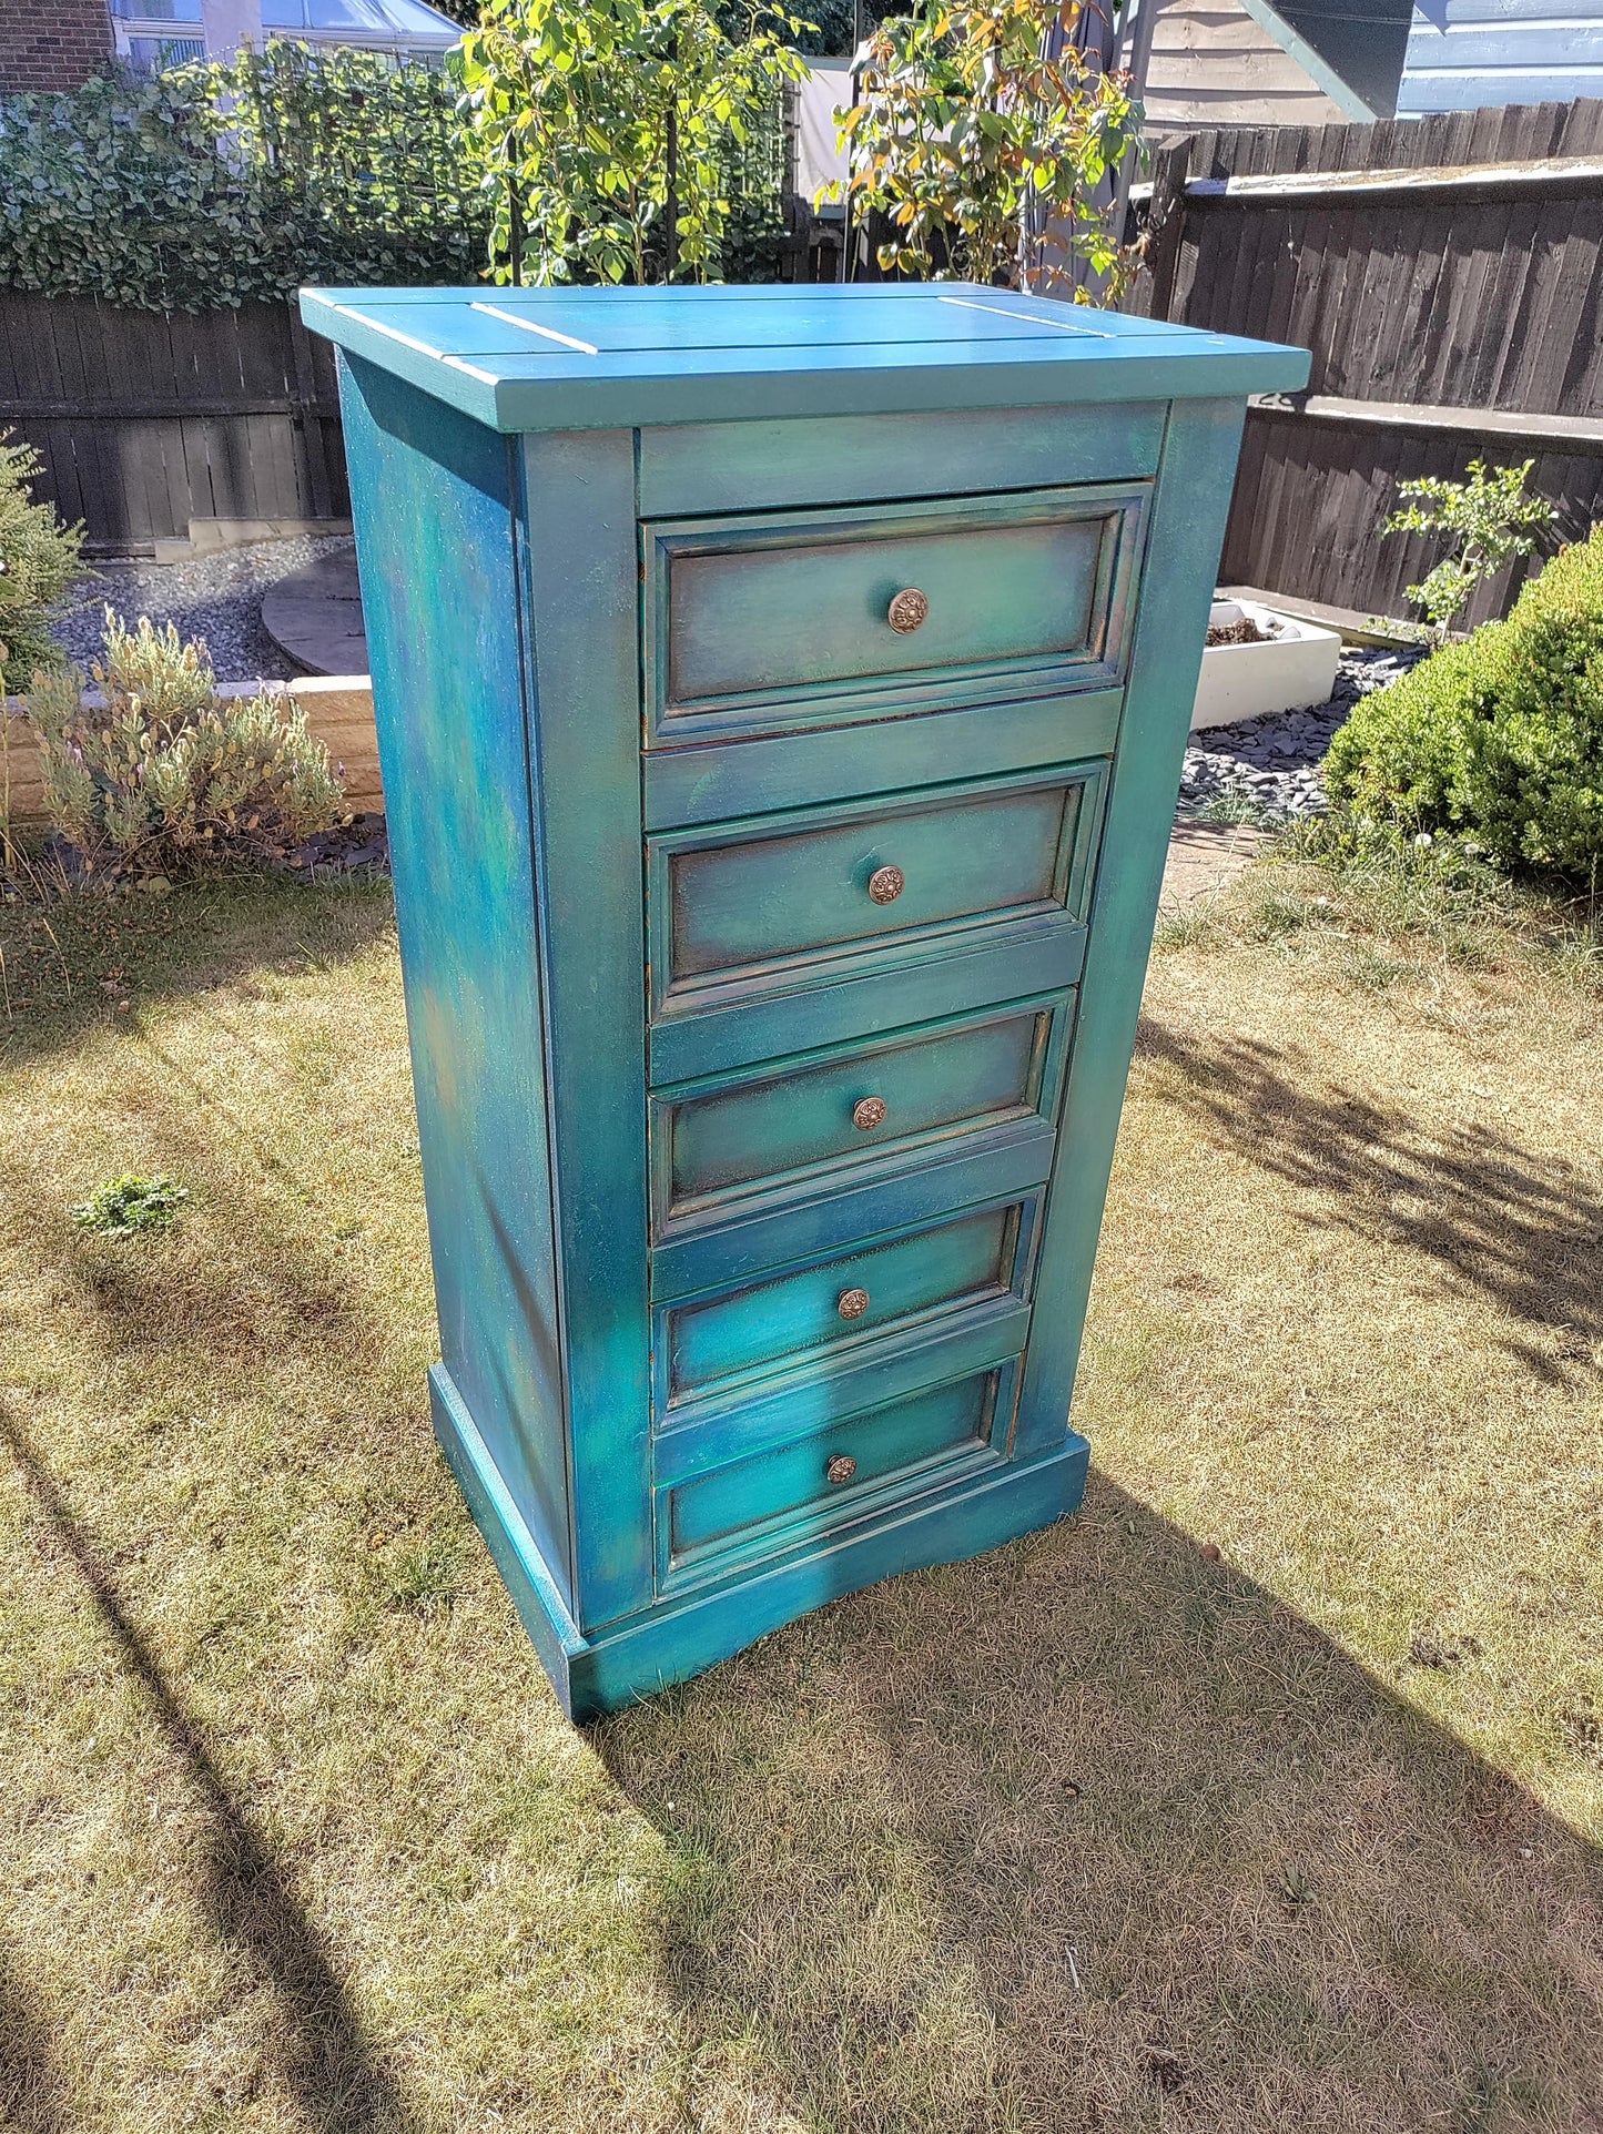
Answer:
[(0, 98), (0, 286), (211, 312), (301, 282), (463, 282), (489, 209), (455, 83), (286, 41)]

